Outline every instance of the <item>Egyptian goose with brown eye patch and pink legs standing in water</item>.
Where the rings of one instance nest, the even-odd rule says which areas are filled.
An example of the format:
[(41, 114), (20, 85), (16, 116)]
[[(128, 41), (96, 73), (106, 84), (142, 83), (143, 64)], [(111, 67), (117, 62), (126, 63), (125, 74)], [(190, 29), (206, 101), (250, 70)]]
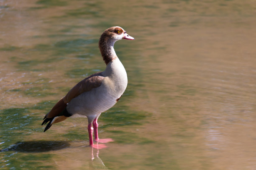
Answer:
[[(115, 42), (121, 39), (134, 40), (123, 28), (118, 26), (108, 28), (102, 33), (99, 40), (99, 48), (106, 63), (106, 69), (80, 81), (54, 105), (44, 117), (42, 125), (49, 122), (44, 132), (54, 123), (61, 122), (67, 117), (82, 115), (88, 118), (90, 145), (93, 146), (93, 131), (95, 141), (100, 141), (97, 131), (97, 119), (102, 112), (115, 105), (127, 87), (125, 68), (114, 50)], [(105, 142), (108, 142), (108, 140)]]

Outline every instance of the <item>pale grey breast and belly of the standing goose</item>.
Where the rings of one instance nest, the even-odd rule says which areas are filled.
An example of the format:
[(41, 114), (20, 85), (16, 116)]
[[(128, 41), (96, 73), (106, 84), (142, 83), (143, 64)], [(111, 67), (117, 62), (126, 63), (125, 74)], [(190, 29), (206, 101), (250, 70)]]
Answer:
[(67, 105), (67, 111), (88, 117), (89, 122), (115, 105), (127, 86), (125, 69), (117, 58), (107, 65), (105, 71), (97, 74), (101, 80), (100, 87), (83, 92), (73, 98)]

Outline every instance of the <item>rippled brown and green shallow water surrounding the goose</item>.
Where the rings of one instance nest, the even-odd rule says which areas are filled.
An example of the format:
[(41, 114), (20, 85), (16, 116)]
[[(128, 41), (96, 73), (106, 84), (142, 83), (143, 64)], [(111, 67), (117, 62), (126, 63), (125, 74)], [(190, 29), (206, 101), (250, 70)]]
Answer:
[[(256, 169), (256, 2), (0, 0), (1, 170)], [(46, 133), (44, 115), (104, 70), (101, 33), (128, 74), (99, 118), (108, 148), (88, 147), (87, 120)]]

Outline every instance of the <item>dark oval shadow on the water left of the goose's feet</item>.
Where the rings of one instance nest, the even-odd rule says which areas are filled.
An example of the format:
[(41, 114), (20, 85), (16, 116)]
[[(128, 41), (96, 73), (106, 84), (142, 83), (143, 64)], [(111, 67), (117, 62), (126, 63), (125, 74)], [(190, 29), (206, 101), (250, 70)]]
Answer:
[(41, 153), (48, 152), (51, 150), (61, 150), (64, 148), (68, 148), (70, 143), (65, 141), (24, 141), (17, 142), (14, 145), (11, 145), (9, 148), (0, 150), (0, 152), (14, 150), (17, 152), (24, 153)]

